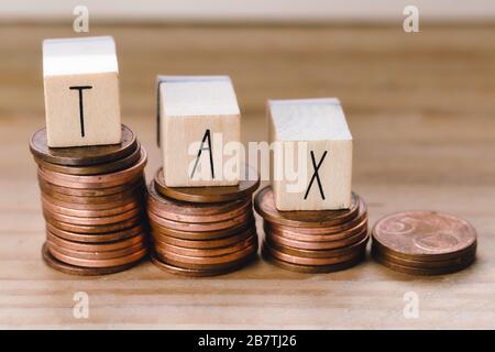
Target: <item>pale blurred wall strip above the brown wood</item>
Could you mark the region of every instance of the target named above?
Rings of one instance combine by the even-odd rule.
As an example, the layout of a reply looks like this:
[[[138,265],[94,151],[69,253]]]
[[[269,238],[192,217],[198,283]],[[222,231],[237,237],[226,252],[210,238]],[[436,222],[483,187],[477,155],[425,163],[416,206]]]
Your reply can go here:
[[[495,0],[2,0],[0,22],[72,20],[75,6],[110,21],[493,21]]]

